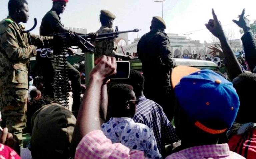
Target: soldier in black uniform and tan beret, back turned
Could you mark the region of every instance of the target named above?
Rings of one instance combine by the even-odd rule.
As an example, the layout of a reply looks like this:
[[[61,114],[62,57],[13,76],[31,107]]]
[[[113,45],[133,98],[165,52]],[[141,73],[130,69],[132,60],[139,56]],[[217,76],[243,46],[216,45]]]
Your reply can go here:
[[[146,98],[162,106],[168,119],[172,120],[170,69],[173,63],[170,41],[164,33],[165,29],[164,20],[158,16],[153,17],[150,32],[141,37],[137,51],[145,77]]]

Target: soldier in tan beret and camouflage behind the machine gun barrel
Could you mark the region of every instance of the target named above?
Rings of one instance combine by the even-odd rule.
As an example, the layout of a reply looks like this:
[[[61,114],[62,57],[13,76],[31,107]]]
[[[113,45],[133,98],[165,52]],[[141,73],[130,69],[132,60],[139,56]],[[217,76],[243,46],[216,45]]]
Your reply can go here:
[[[113,21],[115,20],[116,16],[108,10],[101,10],[100,11],[100,23],[101,27],[96,32],[98,34],[102,33],[112,33],[113,30]],[[117,53],[117,44],[115,39],[106,39],[102,41],[93,41],[91,42],[95,48],[96,52],[94,53],[94,60],[101,57],[102,55],[106,56],[115,56],[116,58],[121,57],[123,60],[131,59],[131,56],[119,54]]]

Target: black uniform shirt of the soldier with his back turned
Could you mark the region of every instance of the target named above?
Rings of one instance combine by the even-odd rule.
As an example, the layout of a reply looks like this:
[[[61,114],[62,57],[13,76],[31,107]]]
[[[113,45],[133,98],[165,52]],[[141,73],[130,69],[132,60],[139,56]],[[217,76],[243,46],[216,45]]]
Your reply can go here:
[[[145,87],[170,86],[172,56],[168,36],[160,30],[151,30],[141,37],[137,51],[142,62]]]

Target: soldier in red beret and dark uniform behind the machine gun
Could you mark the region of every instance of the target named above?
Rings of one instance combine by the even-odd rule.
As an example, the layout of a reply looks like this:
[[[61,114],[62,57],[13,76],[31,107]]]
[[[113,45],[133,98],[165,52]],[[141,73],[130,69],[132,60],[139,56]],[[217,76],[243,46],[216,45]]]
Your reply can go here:
[[[60,14],[62,14],[66,8],[68,0],[52,0],[53,5],[52,9],[45,14],[42,19],[40,27],[40,35],[50,36],[56,33],[67,33],[70,32],[66,30],[63,24],[60,22]],[[76,33],[81,35],[79,33]],[[89,33],[91,38],[95,38],[97,34]],[[42,69],[43,80],[45,86],[45,95],[48,95],[51,98],[54,97],[54,76],[55,76],[55,60],[54,55],[51,52],[48,52],[47,57],[42,58],[37,56],[37,61]],[[81,80],[80,73],[75,69],[69,62],[66,61],[65,69],[68,72],[68,78],[71,81],[72,92],[73,92],[73,106],[72,111],[78,111],[80,106],[80,94],[81,94]]]

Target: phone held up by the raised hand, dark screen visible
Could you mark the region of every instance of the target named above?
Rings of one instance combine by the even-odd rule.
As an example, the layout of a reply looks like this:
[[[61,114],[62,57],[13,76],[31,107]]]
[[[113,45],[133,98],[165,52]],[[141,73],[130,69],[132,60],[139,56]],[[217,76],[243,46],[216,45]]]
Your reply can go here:
[[[116,61],[116,75],[112,76],[111,79],[126,79],[130,76],[130,62],[129,61]]]

